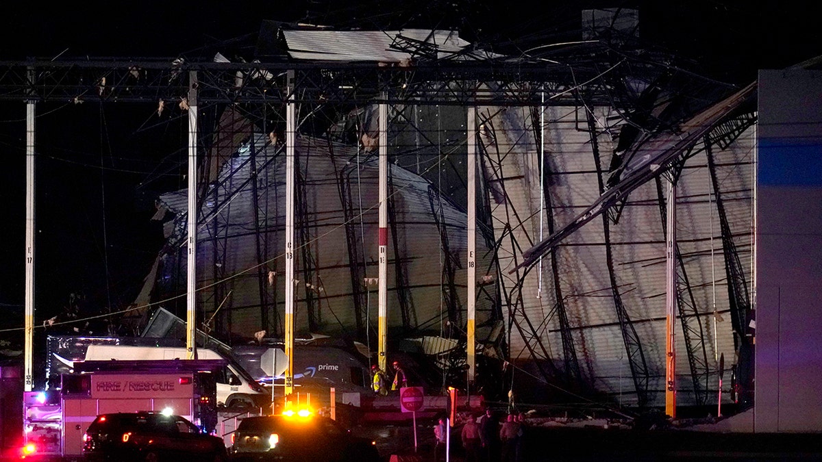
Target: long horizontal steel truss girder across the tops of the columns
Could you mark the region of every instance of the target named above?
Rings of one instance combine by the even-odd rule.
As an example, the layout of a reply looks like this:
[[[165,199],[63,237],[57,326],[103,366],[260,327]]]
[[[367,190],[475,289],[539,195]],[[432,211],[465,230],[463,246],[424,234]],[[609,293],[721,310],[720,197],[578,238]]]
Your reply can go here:
[[[0,100],[176,104],[187,95],[188,72],[197,72],[201,104],[284,104],[289,97],[284,72],[295,70],[299,89],[295,102],[301,104],[364,106],[378,101],[383,89],[389,90],[389,104],[415,100],[459,106],[538,106],[545,92],[550,94],[548,104],[567,104],[575,100],[579,82],[588,82],[581,85],[589,88],[591,101],[631,107],[634,97],[609,92],[604,77],[629,67],[642,67],[653,76],[667,67],[649,63],[637,53],[635,62],[622,58],[603,70],[603,63],[614,58],[607,47],[593,44],[569,53],[566,59],[567,63],[502,58],[419,62],[413,67],[363,62],[187,62],[182,58],[0,61]]]

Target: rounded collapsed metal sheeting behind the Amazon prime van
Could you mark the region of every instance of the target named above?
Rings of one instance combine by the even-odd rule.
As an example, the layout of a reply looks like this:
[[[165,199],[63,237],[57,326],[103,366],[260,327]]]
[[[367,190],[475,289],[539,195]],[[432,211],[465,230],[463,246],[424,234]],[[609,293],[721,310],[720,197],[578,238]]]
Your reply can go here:
[[[376,277],[377,236],[377,163],[376,157],[358,152],[356,147],[342,146],[309,137],[299,137],[297,146],[300,176],[304,184],[305,215],[297,219],[307,229],[298,239],[298,303],[295,308],[296,330],[321,332],[328,335],[354,335],[358,329],[372,334],[376,328],[376,286],[362,288],[365,306],[355,306],[357,290],[352,286],[351,267],[357,266],[366,278]],[[389,327],[396,334],[404,328],[440,334],[446,326],[447,316],[442,307],[443,281],[441,280],[441,232],[447,233],[454,249],[465,247],[465,213],[443,200],[436,219],[432,216],[431,185],[418,175],[395,165],[390,168],[393,183],[394,214],[399,226],[390,229],[397,233],[401,261],[395,262],[393,239],[389,239],[390,264],[388,267]],[[252,185],[252,181],[256,185]],[[344,207],[341,203],[339,182],[346,182],[347,191],[353,198],[353,222],[346,228]],[[358,197],[362,204],[357,205]],[[170,192],[160,200],[177,215],[176,231],[164,253],[164,265],[160,288],[164,293],[177,292],[185,284],[185,236],[187,192]],[[350,205],[349,205],[350,206]],[[282,146],[271,145],[270,138],[257,135],[252,142],[224,164],[219,182],[205,192],[197,232],[197,286],[199,303],[205,305],[205,319],[219,310],[215,321],[236,337],[251,338],[261,326],[269,335],[278,334],[280,326],[275,320],[277,305],[284,303],[284,293],[276,293],[275,281],[284,274],[284,155]],[[441,226],[437,224],[437,220]],[[302,223],[301,223],[302,222]],[[347,235],[353,233],[353,236]],[[307,238],[307,239],[305,239]],[[351,239],[353,238],[353,240]],[[478,242],[482,242],[478,239]],[[346,245],[358,248],[349,253]],[[261,248],[265,253],[259,255]],[[301,252],[302,249],[307,250]],[[479,249],[478,249],[479,250]],[[489,266],[485,261],[491,252],[478,252],[478,265]],[[356,256],[358,261],[350,261]],[[305,270],[306,257],[312,258],[312,274]],[[413,298],[412,326],[403,326],[399,316],[397,275],[399,263],[412,275]],[[281,277],[281,276],[279,276]],[[309,277],[311,279],[307,280]],[[464,273],[457,275],[458,287],[465,286]],[[262,286],[261,286],[262,280]],[[362,279],[358,284],[366,284]],[[270,306],[266,307],[261,291],[270,291]],[[280,291],[282,292],[282,291]],[[373,293],[371,293],[373,292]],[[457,294],[459,296],[459,294]],[[276,298],[276,301],[273,301]],[[316,307],[309,307],[309,298]],[[459,296],[464,299],[464,294]],[[478,339],[490,335],[487,321],[490,307],[478,301]],[[312,313],[312,309],[315,312]],[[365,309],[367,312],[358,312]],[[268,313],[268,319],[261,318]],[[486,313],[486,315],[483,315]],[[309,317],[315,316],[312,321]],[[358,316],[362,320],[358,320]],[[463,320],[464,321],[464,320]],[[364,327],[363,327],[364,323]],[[358,332],[365,334],[366,332]]]

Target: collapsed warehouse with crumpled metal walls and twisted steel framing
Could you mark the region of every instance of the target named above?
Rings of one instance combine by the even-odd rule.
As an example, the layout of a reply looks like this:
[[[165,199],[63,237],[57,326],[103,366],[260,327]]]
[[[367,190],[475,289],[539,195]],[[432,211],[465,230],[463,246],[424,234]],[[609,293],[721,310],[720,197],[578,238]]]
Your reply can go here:
[[[584,40],[518,56],[483,51],[453,30],[266,21],[254,56],[99,65],[117,82],[99,96],[120,101],[179,99],[189,87],[181,70],[197,73],[199,104],[213,116],[199,140],[201,328],[228,344],[283,335],[293,104],[299,335],[344,337],[373,357],[376,151],[385,140],[389,351],[432,357],[442,377],[432,392],[464,386],[473,290],[476,386],[491,399],[514,390],[532,402],[644,408],[676,386],[680,405],[699,407],[718,388],[724,356],[724,399],[750,404],[753,87],[690,72],[640,44],[635,23],[598,28],[598,14]],[[94,65],[41,64],[67,73]],[[187,196],[158,198],[167,242],[127,313],[134,326],[157,307],[185,317]],[[666,378],[671,335],[675,385]]]

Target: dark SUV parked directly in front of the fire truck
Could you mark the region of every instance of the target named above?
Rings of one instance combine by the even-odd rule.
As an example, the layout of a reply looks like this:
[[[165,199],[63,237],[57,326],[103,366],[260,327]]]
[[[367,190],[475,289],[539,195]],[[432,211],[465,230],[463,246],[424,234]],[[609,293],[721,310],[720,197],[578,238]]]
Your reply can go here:
[[[157,462],[194,455],[201,462],[227,459],[223,440],[178,415],[100,414],[83,435],[83,459]]]

